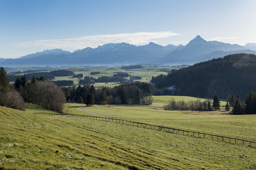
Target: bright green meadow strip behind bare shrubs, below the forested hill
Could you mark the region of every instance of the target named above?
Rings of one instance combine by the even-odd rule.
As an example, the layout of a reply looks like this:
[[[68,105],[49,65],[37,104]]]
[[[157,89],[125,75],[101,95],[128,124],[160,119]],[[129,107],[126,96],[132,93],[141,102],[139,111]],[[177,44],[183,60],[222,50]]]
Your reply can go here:
[[[153,103],[151,106],[165,106],[169,103],[171,99],[174,99],[175,101],[195,101],[197,99],[200,99],[200,101],[204,101],[205,99],[198,98],[198,97],[189,97],[189,96],[173,96],[173,95],[164,95],[164,96],[152,96],[153,97]],[[220,101],[220,107],[224,108],[226,106],[226,101]]]

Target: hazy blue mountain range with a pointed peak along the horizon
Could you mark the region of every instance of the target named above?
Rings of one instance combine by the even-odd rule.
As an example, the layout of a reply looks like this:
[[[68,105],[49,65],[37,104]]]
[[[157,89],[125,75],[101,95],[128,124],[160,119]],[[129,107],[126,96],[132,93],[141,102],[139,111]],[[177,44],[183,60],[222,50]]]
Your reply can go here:
[[[51,49],[16,59],[0,59],[0,65],[194,64],[233,53],[256,54],[256,44],[231,45],[206,41],[201,36],[196,36],[187,45],[178,46],[162,46],[154,42],[139,46],[125,42],[109,43],[94,49],[78,49],[72,53],[62,49]]]

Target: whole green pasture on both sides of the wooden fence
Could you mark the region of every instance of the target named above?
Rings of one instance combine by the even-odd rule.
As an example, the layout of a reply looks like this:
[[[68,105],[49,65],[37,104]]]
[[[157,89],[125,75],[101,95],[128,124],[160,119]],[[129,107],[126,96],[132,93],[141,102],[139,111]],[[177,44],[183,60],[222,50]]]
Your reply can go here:
[[[65,112],[81,104],[66,104]],[[256,141],[256,115],[177,112],[136,106],[83,108],[185,130]],[[33,114],[0,106],[0,169],[255,169],[256,147],[118,123]]]

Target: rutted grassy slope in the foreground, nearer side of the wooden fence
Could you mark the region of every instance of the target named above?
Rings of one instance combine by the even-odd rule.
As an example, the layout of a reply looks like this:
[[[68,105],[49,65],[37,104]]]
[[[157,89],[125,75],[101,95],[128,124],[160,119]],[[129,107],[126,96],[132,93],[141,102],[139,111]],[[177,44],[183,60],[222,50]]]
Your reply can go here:
[[[73,107],[70,108],[70,112],[75,112],[75,107],[80,105],[69,106]],[[0,167],[3,169],[256,168],[254,147],[110,122],[32,114],[42,111],[47,110],[32,104],[27,105],[25,112],[0,106]]]

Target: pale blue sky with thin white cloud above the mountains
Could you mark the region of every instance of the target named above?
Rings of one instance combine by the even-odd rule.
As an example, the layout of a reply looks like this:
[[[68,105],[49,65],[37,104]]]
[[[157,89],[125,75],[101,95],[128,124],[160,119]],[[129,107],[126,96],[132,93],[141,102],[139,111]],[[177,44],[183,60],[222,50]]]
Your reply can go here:
[[[256,42],[255,0],[0,0],[0,58],[106,43]]]

